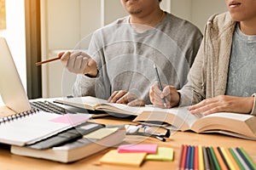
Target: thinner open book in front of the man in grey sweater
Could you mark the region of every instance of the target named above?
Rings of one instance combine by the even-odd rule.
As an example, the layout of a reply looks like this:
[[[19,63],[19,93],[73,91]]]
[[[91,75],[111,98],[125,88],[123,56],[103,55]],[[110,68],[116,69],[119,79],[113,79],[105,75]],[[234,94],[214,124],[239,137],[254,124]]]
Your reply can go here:
[[[108,103],[106,99],[98,99],[91,96],[55,99],[55,103],[85,108],[91,111],[114,112],[128,116],[137,116],[142,111],[151,111],[153,109],[152,107],[132,107],[124,104]]]

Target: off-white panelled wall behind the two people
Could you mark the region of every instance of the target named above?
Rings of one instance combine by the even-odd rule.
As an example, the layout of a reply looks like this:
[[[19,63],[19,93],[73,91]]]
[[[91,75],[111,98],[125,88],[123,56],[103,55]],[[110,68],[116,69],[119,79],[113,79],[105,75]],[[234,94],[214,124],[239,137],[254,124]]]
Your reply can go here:
[[[97,28],[126,15],[120,0],[42,0],[41,3],[43,59],[76,48],[81,40],[89,40],[87,37]],[[224,0],[162,0],[160,6],[191,21],[201,31],[210,15],[226,10]],[[70,93],[75,76],[67,75],[61,62],[55,61],[42,68],[44,98]]]

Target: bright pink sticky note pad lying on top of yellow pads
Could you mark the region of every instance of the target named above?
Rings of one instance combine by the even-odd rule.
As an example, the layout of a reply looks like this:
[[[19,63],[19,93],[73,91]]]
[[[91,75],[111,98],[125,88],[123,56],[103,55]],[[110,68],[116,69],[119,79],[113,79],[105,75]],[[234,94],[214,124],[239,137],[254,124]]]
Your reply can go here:
[[[122,144],[118,147],[119,153],[145,152],[154,154],[157,152],[157,144]]]

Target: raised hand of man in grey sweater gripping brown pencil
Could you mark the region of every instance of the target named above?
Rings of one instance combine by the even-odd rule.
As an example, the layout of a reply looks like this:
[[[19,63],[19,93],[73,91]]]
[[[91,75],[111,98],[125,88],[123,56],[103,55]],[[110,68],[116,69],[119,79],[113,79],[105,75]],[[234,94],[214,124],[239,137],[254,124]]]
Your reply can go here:
[[[97,76],[96,61],[91,59],[88,54],[67,51],[59,53],[58,56],[61,56],[61,62],[68,71],[90,77]]]

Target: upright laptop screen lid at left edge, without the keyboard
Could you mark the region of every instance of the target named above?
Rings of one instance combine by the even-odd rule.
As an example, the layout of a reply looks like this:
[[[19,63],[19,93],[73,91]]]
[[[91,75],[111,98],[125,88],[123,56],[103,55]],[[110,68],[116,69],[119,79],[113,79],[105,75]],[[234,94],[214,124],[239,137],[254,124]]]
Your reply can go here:
[[[0,94],[5,106],[16,113],[31,110],[15,61],[4,37],[0,37],[0,80]]]

